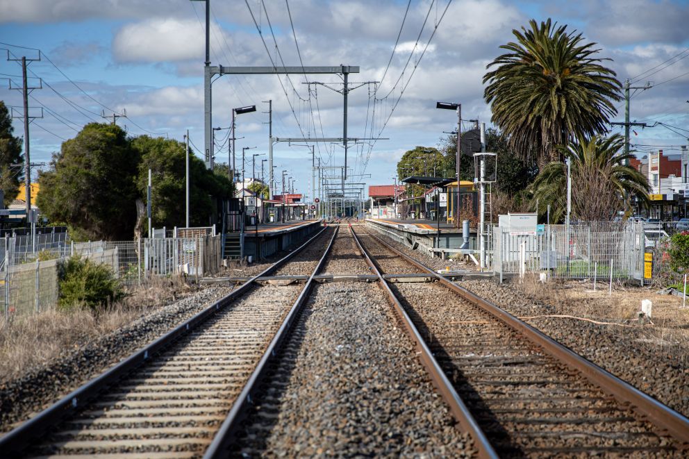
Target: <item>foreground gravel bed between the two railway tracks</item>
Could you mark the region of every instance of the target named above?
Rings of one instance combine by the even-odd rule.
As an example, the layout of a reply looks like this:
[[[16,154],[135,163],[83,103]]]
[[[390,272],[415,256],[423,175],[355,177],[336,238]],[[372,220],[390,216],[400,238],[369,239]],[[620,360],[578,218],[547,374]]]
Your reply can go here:
[[[474,454],[377,287],[319,285],[295,328],[235,454]]]

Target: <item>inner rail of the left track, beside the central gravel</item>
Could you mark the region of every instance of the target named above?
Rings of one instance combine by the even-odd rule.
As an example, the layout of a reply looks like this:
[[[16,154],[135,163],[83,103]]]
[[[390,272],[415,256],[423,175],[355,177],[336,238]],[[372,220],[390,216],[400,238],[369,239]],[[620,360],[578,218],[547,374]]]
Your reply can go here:
[[[208,449],[206,449],[206,453],[204,453],[204,459],[228,457],[227,449],[231,446],[233,440],[235,440],[238,428],[240,428],[240,423],[247,415],[247,409],[252,403],[252,394],[255,394],[255,392],[258,390],[260,383],[267,375],[269,365],[274,359],[277,358],[277,350],[289,336],[294,322],[297,322],[299,312],[301,312],[301,308],[304,306],[304,303],[306,303],[306,299],[313,289],[313,285],[315,283],[313,278],[323,266],[326,256],[328,256],[331,247],[333,247],[333,241],[335,240],[335,237],[337,237],[339,230],[339,226],[335,228],[333,237],[331,237],[323,256],[319,260],[315,269],[313,269],[313,273],[311,273],[309,276],[308,281],[306,281],[304,288],[299,294],[299,297],[297,297],[297,300],[294,301],[294,305],[290,309],[290,312],[288,312],[288,315],[285,317],[285,320],[278,329],[277,333],[275,333],[275,336],[266,348],[265,353],[263,353],[263,357],[258,362],[258,365],[256,365],[256,369],[254,369],[254,372],[251,373],[251,376],[249,376],[249,380],[247,381],[246,385],[244,385],[244,389],[242,392],[240,392],[237,399],[235,399],[229,414],[225,418],[218,431],[215,433],[213,442],[208,445]]]

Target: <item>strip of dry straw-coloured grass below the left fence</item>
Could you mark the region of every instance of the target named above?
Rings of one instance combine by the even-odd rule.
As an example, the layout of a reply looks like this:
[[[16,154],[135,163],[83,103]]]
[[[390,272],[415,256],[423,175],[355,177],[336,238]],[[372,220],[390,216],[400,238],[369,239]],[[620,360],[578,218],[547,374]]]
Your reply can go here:
[[[152,278],[100,312],[47,310],[10,322],[0,317],[0,383],[131,324],[142,314],[165,306],[190,290],[182,278]]]

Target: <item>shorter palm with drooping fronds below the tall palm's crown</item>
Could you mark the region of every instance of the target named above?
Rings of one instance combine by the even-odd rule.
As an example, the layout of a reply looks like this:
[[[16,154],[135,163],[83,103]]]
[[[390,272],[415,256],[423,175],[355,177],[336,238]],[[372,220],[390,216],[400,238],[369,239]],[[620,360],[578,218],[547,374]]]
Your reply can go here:
[[[622,197],[648,201],[648,178],[629,165],[633,154],[621,153],[624,137],[594,135],[579,137],[559,153],[571,161],[572,217],[588,222],[610,220],[622,208]],[[551,220],[562,221],[567,211],[567,165],[550,162],[533,182],[533,199],[538,199],[540,213],[551,206]]]

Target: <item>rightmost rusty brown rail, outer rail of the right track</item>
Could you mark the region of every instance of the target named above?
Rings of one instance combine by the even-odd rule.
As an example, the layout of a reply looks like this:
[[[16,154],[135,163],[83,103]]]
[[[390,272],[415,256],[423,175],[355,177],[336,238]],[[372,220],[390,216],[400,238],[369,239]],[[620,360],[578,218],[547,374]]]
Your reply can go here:
[[[370,233],[372,237],[378,240],[383,246],[390,249],[393,253],[401,256],[404,260],[415,265],[419,269],[422,269],[429,274],[432,274],[440,283],[448,287],[450,290],[460,294],[461,297],[476,304],[486,312],[489,312],[497,319],[501,320],[510,328],[524,335],[528,340],[534,344],[542,347],[551,356],[565,363],[568,367],[581,373],[590,383],[597,385],[607,394],[613,396],[617,401],[621,403],[630,403],[632,408],[639,414],[646,417],[649,422],[660,427],[661,430],[666,431],[681,444],[683,444],[684,449],[689,448],[689,419],[681,413],[676,412],[669,406],[661,403],[660,401],[650,397],[648,394],[641,392],[633,385],[622,381],[614,374],[608,372],[606,369],[599,367],[590,360],[583,358],[578,353],[575,353],[571,349],[565,347],[563,344],[553,340],[542,331],[533,328],[533,326],[526,324],[526,322],[517,319],[514,315],[511,315],[506,310],[499,308],[495,304],[488,300],[485,300],[464,287],[460,287],[453,281],[440,276],[440,274],[433,271],[433,269],[426,267],[421,262],[411,258],[405,253],[395,249],[395,247],[390,246],[387,242],[381,240],[380,237]]]

